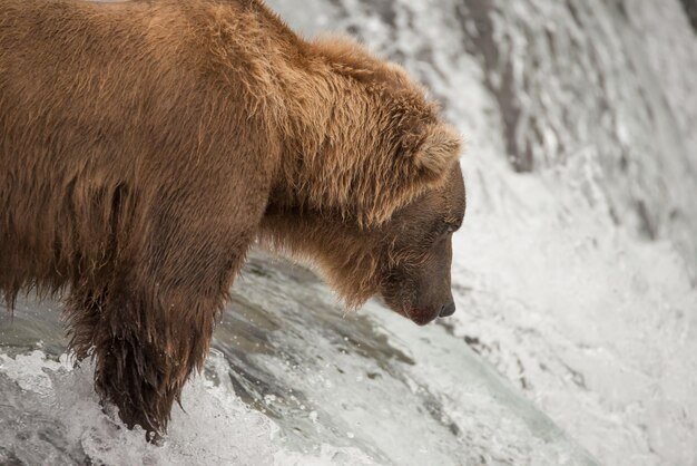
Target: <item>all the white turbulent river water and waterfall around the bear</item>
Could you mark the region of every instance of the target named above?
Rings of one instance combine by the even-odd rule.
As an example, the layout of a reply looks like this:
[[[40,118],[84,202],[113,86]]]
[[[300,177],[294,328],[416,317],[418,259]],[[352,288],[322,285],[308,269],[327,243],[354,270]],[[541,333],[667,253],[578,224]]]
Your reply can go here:
[[[275,0],[402,62],[468,139],[458,312],[346,313],[254,252],[161,446],[60,304],[0,309],[0,464],[697,464],[697,36],[678,0]]]

